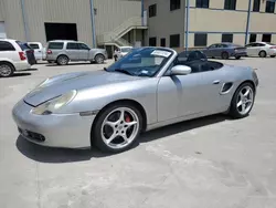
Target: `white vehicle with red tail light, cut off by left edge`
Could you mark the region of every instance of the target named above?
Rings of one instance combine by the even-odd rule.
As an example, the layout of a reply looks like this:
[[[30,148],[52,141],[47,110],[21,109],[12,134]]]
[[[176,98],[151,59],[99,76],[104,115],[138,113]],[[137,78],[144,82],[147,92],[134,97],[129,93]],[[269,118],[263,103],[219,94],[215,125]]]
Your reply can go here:
[[[15,71],[30,69],[34,63],[33,50],[26,43],[0,39],[0,76],[11,76]]]

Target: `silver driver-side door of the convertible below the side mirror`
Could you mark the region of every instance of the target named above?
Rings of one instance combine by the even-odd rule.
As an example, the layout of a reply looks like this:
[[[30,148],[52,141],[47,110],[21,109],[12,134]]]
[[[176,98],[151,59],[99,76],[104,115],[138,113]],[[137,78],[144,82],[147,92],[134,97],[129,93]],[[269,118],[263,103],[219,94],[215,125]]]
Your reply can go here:
[[[208,62],[205,62],[208,63]],[[225,108],[221,102],[224,83],[220,70],[199,72],[204,63],[194,62],[188,75],[162,76],[158,84],[158,122],[219,113]],[[198,71],[198,72],[195,72]]]

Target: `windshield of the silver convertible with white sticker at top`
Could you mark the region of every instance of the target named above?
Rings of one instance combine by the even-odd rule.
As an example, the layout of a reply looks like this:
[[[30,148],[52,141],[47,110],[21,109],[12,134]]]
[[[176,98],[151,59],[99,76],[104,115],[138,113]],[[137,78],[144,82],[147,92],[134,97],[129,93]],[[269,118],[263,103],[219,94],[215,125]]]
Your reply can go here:
[[[171,55],[171,51],[163,49],[135,49],[128,55],[106,69],[106,71],[119,72],[134,76],[153,76]]]

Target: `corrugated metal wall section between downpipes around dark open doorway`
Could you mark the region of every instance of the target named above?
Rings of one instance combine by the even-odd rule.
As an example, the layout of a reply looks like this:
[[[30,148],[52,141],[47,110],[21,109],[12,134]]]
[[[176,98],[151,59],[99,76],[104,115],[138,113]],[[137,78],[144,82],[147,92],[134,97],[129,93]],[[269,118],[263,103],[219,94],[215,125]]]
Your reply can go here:
[[[89,0],[25,0],[25,13],[32,41],[46,42],[45,22],[76,23],[77,39],[93,45]]]

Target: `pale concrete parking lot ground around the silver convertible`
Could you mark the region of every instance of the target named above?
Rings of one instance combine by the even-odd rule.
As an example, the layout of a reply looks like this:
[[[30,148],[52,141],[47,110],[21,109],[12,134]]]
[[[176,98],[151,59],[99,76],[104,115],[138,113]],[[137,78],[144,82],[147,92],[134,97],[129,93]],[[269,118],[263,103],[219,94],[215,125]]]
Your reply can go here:
[[[276,59],[257,67],[251,116],[214,115],[144,134],[118,154],[56,149],[18,134],[11,110],[44,79],[107,64],[38,64],[0,79],[0,208],[275,208]]]

